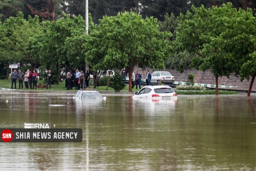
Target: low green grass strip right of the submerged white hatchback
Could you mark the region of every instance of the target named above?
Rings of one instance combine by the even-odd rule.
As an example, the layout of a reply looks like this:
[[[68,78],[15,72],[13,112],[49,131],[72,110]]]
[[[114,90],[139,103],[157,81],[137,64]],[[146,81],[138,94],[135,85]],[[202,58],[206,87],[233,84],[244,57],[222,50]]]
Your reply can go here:
[[[175,90],[175,93],[178,95],[215,95],[215,90],[203,90],[203,91],[179,91]],[[240,94],[236,91],[225,91],[225,90],[219,90],[219,94]]]

